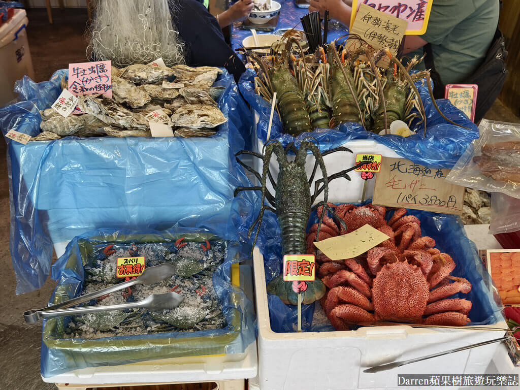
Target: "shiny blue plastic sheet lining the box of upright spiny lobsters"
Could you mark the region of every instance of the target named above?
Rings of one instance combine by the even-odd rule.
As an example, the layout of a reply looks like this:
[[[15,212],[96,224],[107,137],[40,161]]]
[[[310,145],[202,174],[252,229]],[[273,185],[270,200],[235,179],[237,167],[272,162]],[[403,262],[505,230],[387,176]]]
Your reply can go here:
[[[244,99],[259,115],[256,134],[265,143],[271,106],[269,102],[255,93],[253,84],[255,75],[256,73],[253,70],[246,70],[239,80],[239,89]],[[464,152],[467,145],[473,139],[478,138],[478,128],[467,119],[462,111],[454,107],[448,99],[436,100],[439,109],[448,119],[468,127],[470,130],[447,123],[433,106],[427,87],[422,86],[420,81],[415,83],[415,85],[419,90],[426,112],[426,137],[423,136],[424,126],[417,125],[418,120],[416,120],[414,125],[412,124],[412,129],[417,129],[418,134],[409,137],[398,135],[381,136],[365,131],[358,123],[348,122],[342,123],[333,129],[316,129],[310,133],[300,134],[295,138],[290,134],[282,133],[280,117],[275,112],[269,139],[278,139],[284,146],[294,141],[296,146],[298,146],[302,139],[310,136],[318,140],[321,151],[341,146],[352,139],[373,139],[414,163],[429,167],[451,168]]]

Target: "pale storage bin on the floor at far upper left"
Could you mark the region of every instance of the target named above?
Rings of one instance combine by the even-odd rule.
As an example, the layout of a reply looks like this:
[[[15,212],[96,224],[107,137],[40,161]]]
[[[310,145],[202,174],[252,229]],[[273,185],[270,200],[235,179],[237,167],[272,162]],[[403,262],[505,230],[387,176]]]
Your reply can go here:
[[[27,40],[29,19],[24,9],[15,9],[12,18],[0,27],[0,107],[16,98],[15,82],[24,75],[34,79]]]

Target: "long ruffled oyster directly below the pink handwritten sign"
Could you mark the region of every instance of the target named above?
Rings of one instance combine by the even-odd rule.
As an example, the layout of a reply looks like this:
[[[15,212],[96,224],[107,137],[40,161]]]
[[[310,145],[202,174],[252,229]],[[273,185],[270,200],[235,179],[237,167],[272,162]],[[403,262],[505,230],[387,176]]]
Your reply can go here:
[[[144,115],[126,109],[112,99],[83,95],[79,97],[77,105],[82,111],[95,115],[113,127],[141,130],[149,128]]]

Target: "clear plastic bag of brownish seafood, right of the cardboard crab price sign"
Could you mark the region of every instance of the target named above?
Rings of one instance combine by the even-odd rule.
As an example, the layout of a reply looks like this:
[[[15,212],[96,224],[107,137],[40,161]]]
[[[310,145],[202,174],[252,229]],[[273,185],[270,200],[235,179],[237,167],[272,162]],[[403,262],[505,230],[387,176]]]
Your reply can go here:
[[[520,199],[520,124],[483,119],[446,180]]]

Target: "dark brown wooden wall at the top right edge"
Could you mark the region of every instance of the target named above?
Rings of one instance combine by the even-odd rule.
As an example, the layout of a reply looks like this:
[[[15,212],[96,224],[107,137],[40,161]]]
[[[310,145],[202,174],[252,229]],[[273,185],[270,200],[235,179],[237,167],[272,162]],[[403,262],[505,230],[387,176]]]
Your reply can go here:
[[[508,79],[499,99],[517,116],[520,116],[520,1],[503,0],[500,11],[500,31],[504,34],[508,50]]]

